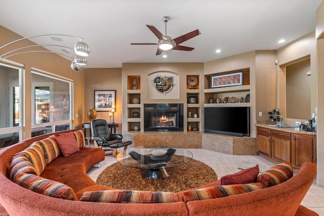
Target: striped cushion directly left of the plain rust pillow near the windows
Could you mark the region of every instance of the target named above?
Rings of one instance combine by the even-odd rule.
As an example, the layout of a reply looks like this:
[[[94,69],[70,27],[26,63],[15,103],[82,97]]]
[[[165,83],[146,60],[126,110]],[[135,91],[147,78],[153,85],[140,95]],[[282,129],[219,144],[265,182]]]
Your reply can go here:
[[[44,140],[37,141],[42,146],[46,164],[49,164],[60,155],[60,148],[57,145],[54,136]]]

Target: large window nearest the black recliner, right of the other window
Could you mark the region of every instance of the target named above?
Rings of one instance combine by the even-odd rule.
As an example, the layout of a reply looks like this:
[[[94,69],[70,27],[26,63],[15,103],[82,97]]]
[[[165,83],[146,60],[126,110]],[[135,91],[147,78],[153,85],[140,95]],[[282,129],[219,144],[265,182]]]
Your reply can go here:
[[[72,82],[32,71],[31,88],[32,136],[70,129]]]

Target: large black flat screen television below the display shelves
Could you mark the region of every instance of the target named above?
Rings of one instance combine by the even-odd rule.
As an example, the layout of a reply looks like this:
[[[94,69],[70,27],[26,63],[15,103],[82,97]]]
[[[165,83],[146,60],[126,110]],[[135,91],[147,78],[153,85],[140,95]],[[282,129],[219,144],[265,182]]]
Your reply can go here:
[[[250,137],[250,107],[205,107],[205,133]]]

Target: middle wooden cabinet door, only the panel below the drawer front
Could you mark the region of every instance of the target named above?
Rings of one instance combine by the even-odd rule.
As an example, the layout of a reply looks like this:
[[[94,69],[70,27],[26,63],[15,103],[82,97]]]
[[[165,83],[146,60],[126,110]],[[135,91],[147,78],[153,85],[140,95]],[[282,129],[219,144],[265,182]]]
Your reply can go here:
[[[290,156],[290,140],[281,139],[278,137],[271,136],[271,158],[279,162],[291,162]]]

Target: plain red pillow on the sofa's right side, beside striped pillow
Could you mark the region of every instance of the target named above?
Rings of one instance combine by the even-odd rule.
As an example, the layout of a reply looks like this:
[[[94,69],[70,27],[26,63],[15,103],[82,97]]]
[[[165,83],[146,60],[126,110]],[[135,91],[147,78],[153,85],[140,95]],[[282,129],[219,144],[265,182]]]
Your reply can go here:
[[[249,184],[257,181],[259,165],[221,177],[220,185]]]

